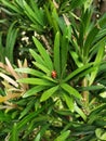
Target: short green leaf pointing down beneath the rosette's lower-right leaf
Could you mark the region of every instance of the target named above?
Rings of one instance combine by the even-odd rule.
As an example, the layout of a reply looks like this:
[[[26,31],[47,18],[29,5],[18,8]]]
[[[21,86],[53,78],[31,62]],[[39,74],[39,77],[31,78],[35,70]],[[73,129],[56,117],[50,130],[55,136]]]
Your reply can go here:
[[[74,99],[72,99],[71,97],[68,97],[67,93],[64,93],[63,95],[64,95],[64,98],[65,98],[65,101],[66,101],[66,104],[67,104],[68,108],[69,108],[71,112],[74,112]]]

